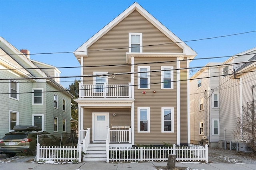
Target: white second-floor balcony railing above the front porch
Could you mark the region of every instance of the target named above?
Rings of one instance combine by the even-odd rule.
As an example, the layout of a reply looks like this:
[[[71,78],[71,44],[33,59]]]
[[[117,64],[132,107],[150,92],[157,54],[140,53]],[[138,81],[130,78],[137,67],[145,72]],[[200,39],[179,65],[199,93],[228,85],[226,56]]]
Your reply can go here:
[[[131,98],[131,83],[129,84],[81,84],[80,98]]]

